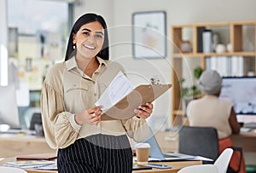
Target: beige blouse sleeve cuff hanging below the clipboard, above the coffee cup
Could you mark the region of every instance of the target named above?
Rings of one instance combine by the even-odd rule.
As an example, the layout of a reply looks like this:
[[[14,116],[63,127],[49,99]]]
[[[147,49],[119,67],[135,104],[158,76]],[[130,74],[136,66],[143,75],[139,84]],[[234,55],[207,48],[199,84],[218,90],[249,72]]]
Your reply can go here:
[[[149,127],[145,119],[133,118],[121,120],[127,131],[127,135],[134,141],[144,141],[149,136]]]

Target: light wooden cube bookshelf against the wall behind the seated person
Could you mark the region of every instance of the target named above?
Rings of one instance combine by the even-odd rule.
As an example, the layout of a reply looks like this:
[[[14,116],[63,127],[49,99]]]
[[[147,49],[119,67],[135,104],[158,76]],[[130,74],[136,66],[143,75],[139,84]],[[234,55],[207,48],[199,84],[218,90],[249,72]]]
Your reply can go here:
[[[213,49],[210,53],[203,53],[202,33],[205,32],[205,30],[210,30],[212,32],[211,36],[217,34],[218,37],[220,37],[220,43],[224,45],[229,43],[231,45],[230,52],[224,51],[223,53],[215,53]],[[191,48],[183,49],[184,45],[190,45]],[[198,66],[201,66],[201,68],[205,70],[208,67],[212,68],[213,64],[211,63],[215,61],[212,61],[212,57],[217,57],[218,63],[221,64],[216,66],[220,68],[219,65],[221,65],[222,69],[227,62],[223,63],[223,58],[220,57],[225,57],[225,59],[230,58],[230,60],[226,60],[229,61],[230,64],[232,64],[230,61],[233,62],[234,60],[233,57],[235,57],[235,59],[236,57],[242,58],[243,66],[247,66],[243,67],[242,70],[256,73],[256,21],[195,23],[172,26],[172,123],[177,122],[177,117],[185,114],[180,92],[182,87],[180,86],[180,80],[184,78],[183,58],[189,58],[193,63],[200,63]],[[195,66],[195,64],[193,66]],[[188,64],[186,64],[186,68],[186,71],[190,71],[188,73],[193,74],[194,69],[189,68]],[[228,69],[228,67],[226,68]],[[218,69],[216,70],[218,71]],[[243,72],[243,75],[247,74],[247,72]],[[191,81],[190,84],[193,84],[191,77],[189,80]]]

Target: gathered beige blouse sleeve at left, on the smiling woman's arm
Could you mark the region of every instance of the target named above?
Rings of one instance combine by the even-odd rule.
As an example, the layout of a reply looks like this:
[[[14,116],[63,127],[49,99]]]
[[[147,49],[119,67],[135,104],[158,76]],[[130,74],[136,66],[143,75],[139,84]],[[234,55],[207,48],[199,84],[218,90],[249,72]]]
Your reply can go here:
[[[81,126],[76,124],[73,113],[65,112],[61,93],[46,83],[41,93],[41,112],[44,136],[49,147],[67,147],[78,138]]]

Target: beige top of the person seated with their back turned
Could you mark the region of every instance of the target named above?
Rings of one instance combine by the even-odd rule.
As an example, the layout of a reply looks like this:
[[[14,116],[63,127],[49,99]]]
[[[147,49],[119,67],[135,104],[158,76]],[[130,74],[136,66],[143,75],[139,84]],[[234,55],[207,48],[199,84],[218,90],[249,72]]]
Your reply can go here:
[[[217,96],[205,95],[201,99],[190,101],[187,114],[190,126],[210,126],[218,131],[218,138],[231,135],[229,123],[231,108],[230,101],[220,101]]]

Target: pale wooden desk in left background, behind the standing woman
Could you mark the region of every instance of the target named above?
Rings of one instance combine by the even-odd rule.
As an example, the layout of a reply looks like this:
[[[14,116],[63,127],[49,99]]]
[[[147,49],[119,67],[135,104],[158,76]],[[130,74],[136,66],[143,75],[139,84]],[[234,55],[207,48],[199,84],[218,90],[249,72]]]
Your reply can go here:
[[[0,158],[32,153],[55,153],[41,136],[0,135]]]

